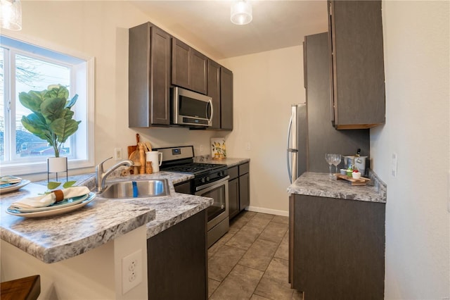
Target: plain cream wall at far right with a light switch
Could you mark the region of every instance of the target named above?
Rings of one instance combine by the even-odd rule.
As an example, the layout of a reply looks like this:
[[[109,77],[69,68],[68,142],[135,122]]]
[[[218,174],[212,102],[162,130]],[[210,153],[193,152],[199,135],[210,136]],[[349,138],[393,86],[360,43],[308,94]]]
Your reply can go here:
[[[450,297],[449,4],[383,1],[386,124],[371,156],[387,183],[385,299]]]

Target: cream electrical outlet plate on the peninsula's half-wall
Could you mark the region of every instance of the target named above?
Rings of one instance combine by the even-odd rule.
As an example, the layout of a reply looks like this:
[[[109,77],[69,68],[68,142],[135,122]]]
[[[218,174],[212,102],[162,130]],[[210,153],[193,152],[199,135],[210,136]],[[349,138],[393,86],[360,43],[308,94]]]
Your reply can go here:
[[[142,250],[122,258],[122,295],[142,282]]]

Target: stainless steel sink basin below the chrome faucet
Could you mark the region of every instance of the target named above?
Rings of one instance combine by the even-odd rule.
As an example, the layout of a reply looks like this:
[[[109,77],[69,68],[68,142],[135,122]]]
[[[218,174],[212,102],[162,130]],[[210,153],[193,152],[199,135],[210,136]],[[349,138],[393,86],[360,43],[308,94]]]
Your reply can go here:
[[[110,199],[129,199],[168,196],[169,194],[167,179],[156,179],[111,182],[100,196]]]

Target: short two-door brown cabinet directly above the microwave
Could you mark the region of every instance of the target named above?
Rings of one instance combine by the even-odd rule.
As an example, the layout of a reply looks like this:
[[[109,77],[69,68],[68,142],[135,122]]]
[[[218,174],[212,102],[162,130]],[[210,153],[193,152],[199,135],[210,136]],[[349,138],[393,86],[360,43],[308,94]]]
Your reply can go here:
[[[172,38],[172,85],[207,94],[207,57]]]

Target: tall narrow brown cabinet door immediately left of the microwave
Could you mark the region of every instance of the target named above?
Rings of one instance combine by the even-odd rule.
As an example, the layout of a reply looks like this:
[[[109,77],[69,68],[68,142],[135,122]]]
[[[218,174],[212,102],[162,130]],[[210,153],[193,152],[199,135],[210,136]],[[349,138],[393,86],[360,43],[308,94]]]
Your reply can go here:
[[[151,29],[151,123],[170,124],[170,36],[158,27]]]

